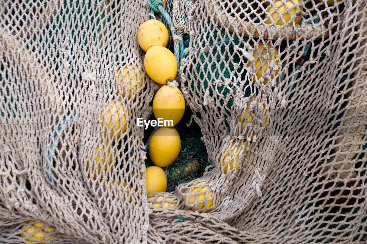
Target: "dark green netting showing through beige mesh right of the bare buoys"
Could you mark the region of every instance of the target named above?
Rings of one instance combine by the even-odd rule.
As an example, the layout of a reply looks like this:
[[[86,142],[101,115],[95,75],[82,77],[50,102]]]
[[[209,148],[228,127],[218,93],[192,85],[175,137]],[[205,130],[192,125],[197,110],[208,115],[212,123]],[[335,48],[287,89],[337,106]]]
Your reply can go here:
[[[209,26],[210,27],[206,28],[206,30],[215,29],[214,26]],[[246,80],[247,59],[241,60],[240,55],[242,55],[242,53],[238,50],[243,49],[245,43],[253,45],[253,42],[247,37],[244,37],[243,41],[241,41],[239,36],[223,29],[220,31],[215,29],[213,34],[210,32],[203,32],[200,39],[201,42],[208,42],[209,46],[207,50],[199,56],[199,59],[188,68],[192,70],[192,67],[194,65],[196,66],[196,72],[189,72],[194,74],[193,79],[198,80],[197,84],[191,84],[191,88],[195,91],[205,91],[208,89],[209,96],[217,97],[221,106],[224,106],[226,118],[229,118],[233,112],[233,95],[231,92],[233,93],[233,90],[235,90],[237,86],[240,86],[240,82],[245,81],[244,85],[242,85],[244,87],[244,96],[248,97],[251,95],[251,90],[246,89],[246,85],[250,84],[250,81],[248,79]],[[210,49],[213,49],[213,51],[210,52]],[[231,60],[231,62],[228,63],[228,60]],[[207,72],[208,69],[210,72]],[[191,79],[190,75],[188,75],[188,80],[189,79]],[[229,80],[229,84],[223,82],[225,79]],[[201,84],[199,80],[203,80],[203,84]],[[188,85],[187,82],[185,85]],[[201,88],[201,85],[203,85],[204,89]],[[192,93],[190,92],[190,96],[191,95]],[[225,123],[229,129],[228,122],[225,121]]]

